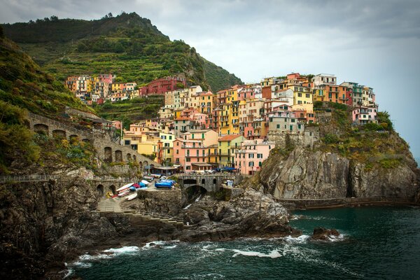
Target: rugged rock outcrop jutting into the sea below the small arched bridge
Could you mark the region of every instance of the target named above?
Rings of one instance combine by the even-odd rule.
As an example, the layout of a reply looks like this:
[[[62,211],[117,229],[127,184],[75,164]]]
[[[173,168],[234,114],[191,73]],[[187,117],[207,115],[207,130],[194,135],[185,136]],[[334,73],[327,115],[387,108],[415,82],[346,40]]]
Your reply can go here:
[[[249,189],[228,202],[205,196],[184,214],[186,223],[181,240],[224,240],[235,237],[281,237],[299,235],[290,228],[286,209],[271,195]]]

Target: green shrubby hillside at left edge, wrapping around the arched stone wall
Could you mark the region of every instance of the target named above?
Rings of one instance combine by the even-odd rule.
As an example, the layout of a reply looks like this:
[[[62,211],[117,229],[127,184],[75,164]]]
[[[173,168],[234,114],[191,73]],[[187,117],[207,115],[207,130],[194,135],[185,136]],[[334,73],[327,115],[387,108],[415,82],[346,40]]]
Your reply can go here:
[[[45,162],[89,165],[87,144],[51,141],[25,124],[27,112],[69,122],[65,108],[94,112],[13,43],[0,28],[0,174],[36,172]],[[31,168],[28,168],[32,165]]]

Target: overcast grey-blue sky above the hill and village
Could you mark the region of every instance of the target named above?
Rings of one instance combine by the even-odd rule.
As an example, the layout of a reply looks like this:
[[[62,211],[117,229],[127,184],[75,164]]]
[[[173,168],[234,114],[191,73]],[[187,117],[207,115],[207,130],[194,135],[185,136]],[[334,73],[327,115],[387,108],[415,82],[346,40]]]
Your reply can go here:
[[[373,87],[420,158],[419,0],[0,0],[0,22],[135,12],[246,83],[332,73]],[[420,110],[419,110],[420,111]]]

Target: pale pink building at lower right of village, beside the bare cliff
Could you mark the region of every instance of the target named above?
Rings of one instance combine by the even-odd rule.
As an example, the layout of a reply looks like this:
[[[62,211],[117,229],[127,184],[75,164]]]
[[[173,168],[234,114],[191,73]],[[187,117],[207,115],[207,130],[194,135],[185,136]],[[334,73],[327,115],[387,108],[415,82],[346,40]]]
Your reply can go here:
[[[235,168],[241,174],[255,174],[255,172],[260,171],[262,162],[268,158],[269,151],[274,146],[274,142],[269,142],[266,139],[242,142],[241,148],[235,151]]]

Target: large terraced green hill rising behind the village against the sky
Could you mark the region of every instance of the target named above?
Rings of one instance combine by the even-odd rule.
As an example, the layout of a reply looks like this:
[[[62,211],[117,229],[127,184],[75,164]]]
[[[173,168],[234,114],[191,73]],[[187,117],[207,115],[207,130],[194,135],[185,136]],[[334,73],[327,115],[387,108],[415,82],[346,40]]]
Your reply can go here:
[[[66,76],[115,73],[118,81],[146,84],[184,73],[191,85],[214,92],[241,80],[208,62],[183,41],[170,41],[151,21],[136,13],[101,20],[59,20],[3,25],[8,38],[59,80]]]

